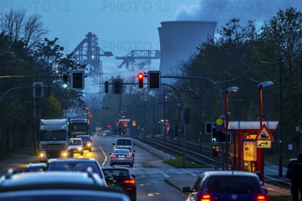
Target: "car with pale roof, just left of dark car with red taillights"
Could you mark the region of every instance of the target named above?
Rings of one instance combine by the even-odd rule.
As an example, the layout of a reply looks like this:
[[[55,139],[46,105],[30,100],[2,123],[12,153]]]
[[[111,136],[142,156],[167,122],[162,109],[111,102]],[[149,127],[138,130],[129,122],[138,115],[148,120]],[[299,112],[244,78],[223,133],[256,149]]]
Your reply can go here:
[[[53,158],[48,159],[45,171],[69,172],[79,171],[86,172],[91,167],[93,172],[98,174],[105,181],[101,165],[94,158]],[[106,183],[106,181],[105,181]]]

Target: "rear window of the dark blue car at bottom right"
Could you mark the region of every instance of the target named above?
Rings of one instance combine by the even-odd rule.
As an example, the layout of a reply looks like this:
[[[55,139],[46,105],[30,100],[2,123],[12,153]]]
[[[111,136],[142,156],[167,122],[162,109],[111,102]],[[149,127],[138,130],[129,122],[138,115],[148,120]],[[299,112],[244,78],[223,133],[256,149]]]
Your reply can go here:
[[[260,193],[261,187],[252,176],[210,176],[205,190],[216,193]]]

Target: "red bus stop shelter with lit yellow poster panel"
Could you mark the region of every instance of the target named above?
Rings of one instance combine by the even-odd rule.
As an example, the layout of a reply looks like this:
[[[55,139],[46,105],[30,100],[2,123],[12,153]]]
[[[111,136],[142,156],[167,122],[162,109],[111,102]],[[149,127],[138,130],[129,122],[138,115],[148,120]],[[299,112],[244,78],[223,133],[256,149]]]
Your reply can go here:
[[[269,132],[274,132],[278,121],[263,121]],[[261,149],[258,148],[256,136],[260,130],[259,121],[231,121],[229,122],[231,134],[231,170],[261,171]],[[273,135],[272,135],[273,136]]]

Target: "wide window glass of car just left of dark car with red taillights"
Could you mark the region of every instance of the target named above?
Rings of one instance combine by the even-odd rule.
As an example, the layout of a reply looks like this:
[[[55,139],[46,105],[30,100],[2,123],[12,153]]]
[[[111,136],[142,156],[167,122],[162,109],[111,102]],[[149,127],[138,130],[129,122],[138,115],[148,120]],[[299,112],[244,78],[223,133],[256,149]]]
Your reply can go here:
[[[47,167],[47,171],[58,171],[58,172],[69,172],[69,171],[79,171],[86,172],[87,168],[91,167],[93,172],[97,173],[102,177],[98,165],[94,162],[77,162],[77,161],[61,161],[61,162],[50,162]]]

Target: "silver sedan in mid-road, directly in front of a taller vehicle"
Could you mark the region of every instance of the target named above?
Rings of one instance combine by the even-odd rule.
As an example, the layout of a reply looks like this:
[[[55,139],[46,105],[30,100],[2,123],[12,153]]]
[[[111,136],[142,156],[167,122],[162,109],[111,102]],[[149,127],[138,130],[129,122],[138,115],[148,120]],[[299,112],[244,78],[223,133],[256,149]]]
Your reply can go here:
[[[129,165],[133,167],[133,156],[129,149],[114,149],[113,153],[110,153],[110,166],[113,165]]]

